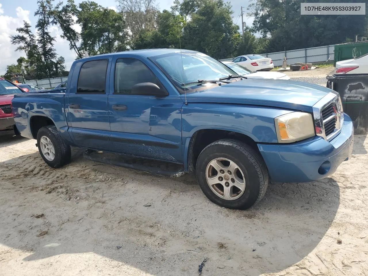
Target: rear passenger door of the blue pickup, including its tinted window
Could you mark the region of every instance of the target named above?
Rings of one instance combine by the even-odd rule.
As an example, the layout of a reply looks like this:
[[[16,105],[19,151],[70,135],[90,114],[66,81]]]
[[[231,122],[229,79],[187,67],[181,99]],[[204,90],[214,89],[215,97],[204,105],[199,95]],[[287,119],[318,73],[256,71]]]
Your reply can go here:
[[[77,146],[110,150],[110,121],[107,111],[112,57],[87,60],[75,65],[71,83],[67,84],[67,120]]]

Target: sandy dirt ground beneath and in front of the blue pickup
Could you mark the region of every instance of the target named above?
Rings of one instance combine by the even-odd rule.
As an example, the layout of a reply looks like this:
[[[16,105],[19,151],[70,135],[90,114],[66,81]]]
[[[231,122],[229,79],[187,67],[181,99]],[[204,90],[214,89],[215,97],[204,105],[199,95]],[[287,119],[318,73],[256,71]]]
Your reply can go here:
[[[0,275],[368,275],[368,138],[314,183],[272,183],[245,211],[191,176],[85,160],[51,169],[35,140],[0,138]],[[340,243],[341,242],[341,243]]]

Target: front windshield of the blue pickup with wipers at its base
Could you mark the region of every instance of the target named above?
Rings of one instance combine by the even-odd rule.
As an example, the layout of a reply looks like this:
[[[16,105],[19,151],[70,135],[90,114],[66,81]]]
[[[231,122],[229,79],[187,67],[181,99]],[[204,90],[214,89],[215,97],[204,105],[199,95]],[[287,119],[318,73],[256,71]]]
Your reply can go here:
[[[180,93],[195,89],[200,81],[218,80],[236,72],[206,54],[198,52],[176,52],[150,57],[176,85]],[[220,82],[219,82],[220,83]]]

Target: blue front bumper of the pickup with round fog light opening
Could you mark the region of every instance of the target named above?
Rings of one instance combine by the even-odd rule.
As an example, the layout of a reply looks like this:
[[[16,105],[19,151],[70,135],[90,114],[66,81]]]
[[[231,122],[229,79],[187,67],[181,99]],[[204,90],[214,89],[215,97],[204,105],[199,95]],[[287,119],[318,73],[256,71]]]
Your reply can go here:
[[[353,151],[354,127],[344,114],[341,132],[331,141],[315,136],[287,145],[258,144],[272,181],[310,182],[333,174]]]

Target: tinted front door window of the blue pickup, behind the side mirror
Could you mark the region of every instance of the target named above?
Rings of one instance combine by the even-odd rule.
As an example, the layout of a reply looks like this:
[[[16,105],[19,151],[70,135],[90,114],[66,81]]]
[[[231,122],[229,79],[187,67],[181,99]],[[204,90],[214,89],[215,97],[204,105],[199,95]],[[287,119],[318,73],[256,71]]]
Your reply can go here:
[[[159,80],[140,60],[118,59],[115,65],[115,93],[131,94],[132,87],[142,82],[152,82],[162,88]]]

